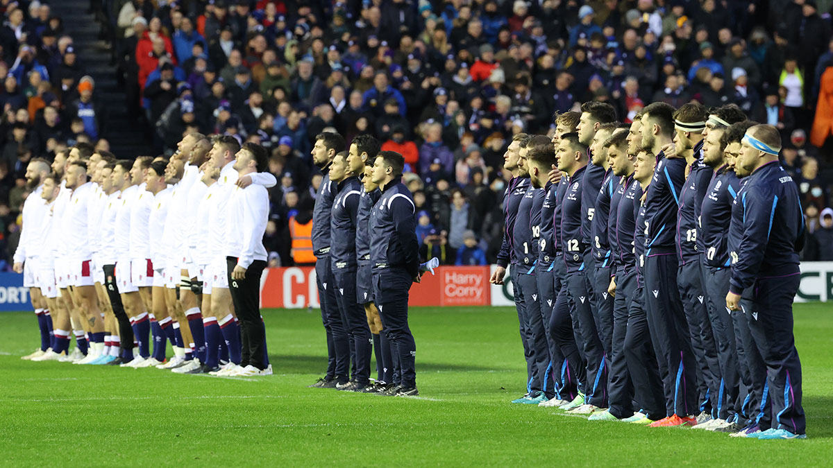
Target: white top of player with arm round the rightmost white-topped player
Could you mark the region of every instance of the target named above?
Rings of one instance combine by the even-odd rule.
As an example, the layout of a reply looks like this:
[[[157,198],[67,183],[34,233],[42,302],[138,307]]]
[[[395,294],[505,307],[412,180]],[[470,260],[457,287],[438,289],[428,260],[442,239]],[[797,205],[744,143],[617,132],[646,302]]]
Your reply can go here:
[[[220,171],[220,178],[214,185],[217,185],[217,201],[212,204],[211,212],[208,215],[210,229],[209,253],[212,261],[223,260],[226,257],[226,229],[229,221],[227,205],[232,198],[232,193],[237,188],[237,171],[234,169],[234,162],[228,162]],[[262,187],[275,187],[277,179],[269,172],[255,172],[252,176],[252,185]],[[251,187],[251,186],[250,186]],[[247,187],[248,188],[248,187]]]

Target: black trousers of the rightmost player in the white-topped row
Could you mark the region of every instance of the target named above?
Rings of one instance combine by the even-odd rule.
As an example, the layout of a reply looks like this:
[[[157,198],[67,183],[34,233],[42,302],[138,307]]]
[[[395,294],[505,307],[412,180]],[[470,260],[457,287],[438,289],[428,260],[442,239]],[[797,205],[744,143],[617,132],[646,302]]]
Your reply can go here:
[[[255,366],[261,371],[266,368],[263,362],[263,346],[266,343],[266,331],[260,316],[260,278],[266,261],[252,261],[242,280],[232,279],[232,271],[237,266],[237,258],[226,257],[228,266],[228,288],[232,292],[232,303],[240,321],[240,347],[242,350],[240,366]]]

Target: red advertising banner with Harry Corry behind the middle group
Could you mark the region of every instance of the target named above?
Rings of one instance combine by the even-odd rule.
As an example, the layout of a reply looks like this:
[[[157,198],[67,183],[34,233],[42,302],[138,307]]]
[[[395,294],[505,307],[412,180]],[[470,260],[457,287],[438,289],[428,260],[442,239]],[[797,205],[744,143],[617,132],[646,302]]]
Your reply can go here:
[[[440,266],[411,286],[412,306],[488,306],[488,266]],[[315,268],[267,268],[261,278],[261,306],[277,309],[317,308]]]

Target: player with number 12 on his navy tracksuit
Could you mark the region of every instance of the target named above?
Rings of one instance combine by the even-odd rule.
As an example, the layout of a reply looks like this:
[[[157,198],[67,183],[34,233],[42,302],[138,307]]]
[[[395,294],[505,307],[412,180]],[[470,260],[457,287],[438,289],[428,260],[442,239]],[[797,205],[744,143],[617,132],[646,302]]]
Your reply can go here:
[[[566,292],[570,300],[570,315],[577,326],[576,343],[583,351],[586,366],[584,402],[573,401],[563,409],[576,414],[591,414],[607,405],[607,380],[605,350],[596,329],[588,292],[585,257],[590,256],[590,246],[582,232],[585,210],[582,205],[582,187],[588,167],[587,147],[577,134],[561,137],[558,147],[558,168],[570,177],[569,187],[561,204],[561,252],[566,265]],[[589,228],[589,226],[588,226]],[[557,309],[557,307],[556,307]],[[570,356],[567,356],[569,359]]]

